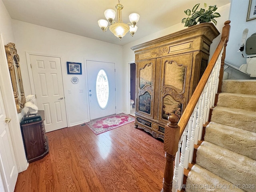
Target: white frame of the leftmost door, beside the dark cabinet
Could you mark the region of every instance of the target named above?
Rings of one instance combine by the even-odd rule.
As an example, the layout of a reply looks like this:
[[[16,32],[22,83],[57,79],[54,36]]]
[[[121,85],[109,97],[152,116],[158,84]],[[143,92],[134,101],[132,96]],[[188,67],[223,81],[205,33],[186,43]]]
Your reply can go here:
[[[24,144],[22,140],[22,134],[20,130],[20,119],[22,118],[22,113],[17,113],[16,104],[14,100],[14,94],[12,89],[12,81],[10,77],[10,72],[8,68],[6,52],[4,48],[4,40],[2,37],[2,32],[0,32],[0,87],[2,90],[2,97],[5,104],[6,116],[11,118],[9,128],[10,135],[12,138],[12,145],[14,149],[16,164],[18,172],[22,172],[28,168],[28,161],[25,154]]]

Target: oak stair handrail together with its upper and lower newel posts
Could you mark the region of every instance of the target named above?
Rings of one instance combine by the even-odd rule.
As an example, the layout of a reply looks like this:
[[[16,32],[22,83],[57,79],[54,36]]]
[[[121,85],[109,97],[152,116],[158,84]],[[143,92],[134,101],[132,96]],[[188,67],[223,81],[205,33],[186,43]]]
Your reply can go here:
[[[174,159],[176,156],[176,152],[178,151],[178,143],[182,137],[182,134],[190,120],[190,116],[192,115],[194,108],[204,90],[206,83],[212,73],[212,70],[218,60],[220,53],[223,50],[222,58],[221,58],[221,68],[220,68],[220,75],[219,75],[219,87],[218,92],[221,90],[223,72],[224,72],[224,59],[226,55],[226,46],[228,42],[228,36],[230,31],[230,21],[226,21],[224,23],[224,27],[222,28],[222,36],[220,43],[218,44],[214,54],[212,55],[212,59],[210,60],[202,78],[200,79],[192,97],[190,98],[186,109],[184,110],[179,122],[178,117],[175,115],[170,115],[168,120],[170,121],[165,126],[165,133],[164,133],[164,151],[166,157],[166,163],[164,168],[164,179],[163,179],[163,188],[161,192],[171,192],[172,191],[172,178],[174,175]],[[177,124],[178,122],[178,124]],[[178,152],[177,152],[178,153]]]

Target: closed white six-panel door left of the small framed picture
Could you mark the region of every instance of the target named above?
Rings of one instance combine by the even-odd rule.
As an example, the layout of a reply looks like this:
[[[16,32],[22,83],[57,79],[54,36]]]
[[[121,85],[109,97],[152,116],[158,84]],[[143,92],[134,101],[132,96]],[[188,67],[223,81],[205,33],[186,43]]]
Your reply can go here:
[[[60,58],[30,55],[36,101],[44,110],[46,132],[67,127]]]

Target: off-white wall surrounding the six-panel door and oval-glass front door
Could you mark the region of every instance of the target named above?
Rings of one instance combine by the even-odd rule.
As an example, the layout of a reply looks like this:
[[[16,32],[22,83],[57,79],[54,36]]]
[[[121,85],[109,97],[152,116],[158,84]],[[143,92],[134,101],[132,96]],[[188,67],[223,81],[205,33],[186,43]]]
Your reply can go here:
[[[82,124],[89,120],[88,90],[86,85],[84,59],[116,63],[117,112],[122,108],[122,46],[62,32],[18,20],[12,20],[16,38],[16,47],[20,56],[25,94],[31,94],[28,67],[25,52],[58,56],[61,58],[64,94],[68,117],[68,126]],[[74,75],[67,74],[66,62],[82,63],[82,75],[78,84],[70,81]],[[71,94],[68,94],[68,90]],[[79,89],[84,89],[79,93]]]

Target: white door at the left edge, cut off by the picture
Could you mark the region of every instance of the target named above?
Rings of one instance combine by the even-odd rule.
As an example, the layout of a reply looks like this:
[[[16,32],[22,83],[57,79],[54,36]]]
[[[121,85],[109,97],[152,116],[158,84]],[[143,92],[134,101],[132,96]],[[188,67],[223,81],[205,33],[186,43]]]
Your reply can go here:
[[[8,122],[5,121],[5,118],[4,102],[0,90],[0,179],[2,179],[2,182],[0,181],[0,191],[13,192],[18,178],[18,168]],[[1,186],[1,183],[4,186]]]

